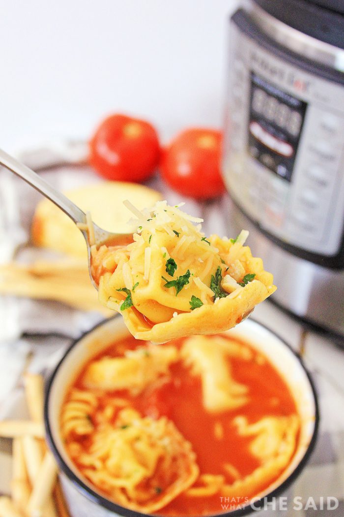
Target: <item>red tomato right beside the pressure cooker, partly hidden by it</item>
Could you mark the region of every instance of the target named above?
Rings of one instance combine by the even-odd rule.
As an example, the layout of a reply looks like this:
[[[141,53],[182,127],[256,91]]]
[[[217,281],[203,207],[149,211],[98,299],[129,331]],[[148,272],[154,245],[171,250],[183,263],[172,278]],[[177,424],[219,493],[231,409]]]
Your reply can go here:
[[[224,192],[220,174],[222,134],[214,129],[183,131],[163,151],[162,177],[177,192],[211,199]]]

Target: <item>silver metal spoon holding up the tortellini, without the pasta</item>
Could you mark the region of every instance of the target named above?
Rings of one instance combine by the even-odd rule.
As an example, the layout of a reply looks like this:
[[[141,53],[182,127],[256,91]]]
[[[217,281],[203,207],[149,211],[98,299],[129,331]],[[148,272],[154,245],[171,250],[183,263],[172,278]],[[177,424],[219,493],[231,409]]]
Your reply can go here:
[[[0,165],[3,165],[9,171],[20,176],[26,183],[34,187],[45,197],[50,199],[56,206],[61,208],[65,214],[67,214],[75,224],[82,223],[86,224],[86,214],[83,210],[80,210],[78,206],[72,203],[71,200],[68,199],[65,195],[63,195],[58,190],[54,189],[45,179],[39,176],[36,172],[29,169],[26,165],[19,162],[12,156],[8,155],[0,149]],[[92,223],[94,227],[94,239],[95,245],[97,248],[99,246],[105,244],[107,246],[118,246],[125,245],[128,242],[132,242],[133,234],[125,234],[125,233],[111,233],[103,230],[95,223]],[[80,229],[79,229],[80,230]],[[80,232],[84,235],[86,244],[87,244],[87,253],[88,253],[88,269],[90,273],[91,282],[94,287],[97,289],[98,284],[92,277],[91,273],[91,246],[88,238],[88,233],[86,230],[80,230]]]

